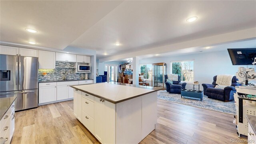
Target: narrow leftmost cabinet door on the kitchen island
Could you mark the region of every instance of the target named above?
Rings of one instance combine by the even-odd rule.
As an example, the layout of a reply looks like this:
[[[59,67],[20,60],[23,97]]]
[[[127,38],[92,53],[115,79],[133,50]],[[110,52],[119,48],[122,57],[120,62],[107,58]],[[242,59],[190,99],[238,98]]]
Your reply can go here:
[[[79,90],[74,89],[74,115],[76,116],[76,118],[78,118],[78,120],[81,121],[82,118],[82,100],[79,102],[79,99],[82,99],[82,92]],[[81,103],[81,104],[79,104]],[[79,117],[79,106],[80,107],[80,111],[81,111],[81,116]],[[80,119],[79,119],[80,118]]]

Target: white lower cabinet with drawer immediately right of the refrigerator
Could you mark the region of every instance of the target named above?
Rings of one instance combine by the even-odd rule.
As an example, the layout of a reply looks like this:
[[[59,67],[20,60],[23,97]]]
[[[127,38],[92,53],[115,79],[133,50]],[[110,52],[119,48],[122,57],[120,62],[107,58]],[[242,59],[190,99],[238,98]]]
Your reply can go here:
[[[39,83],[39,104],[57,100],[56,82]]]

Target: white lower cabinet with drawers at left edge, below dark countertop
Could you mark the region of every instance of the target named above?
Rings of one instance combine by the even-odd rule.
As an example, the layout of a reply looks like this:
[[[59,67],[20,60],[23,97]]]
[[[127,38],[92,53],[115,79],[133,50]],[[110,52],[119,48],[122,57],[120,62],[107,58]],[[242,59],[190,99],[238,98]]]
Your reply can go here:
[[[14,103],[11,105],[11,107],[7,110],[5,116],[1,119],[1,131],[0,131],[0,143],[1,144],[10,144],[12,140],[12,136],[14,133],[15,128],[15,108]]]

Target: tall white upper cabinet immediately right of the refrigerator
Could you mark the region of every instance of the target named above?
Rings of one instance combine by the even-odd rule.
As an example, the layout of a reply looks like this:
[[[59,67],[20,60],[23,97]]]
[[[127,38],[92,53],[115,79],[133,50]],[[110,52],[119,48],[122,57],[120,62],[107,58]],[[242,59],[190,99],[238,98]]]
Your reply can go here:
[[[55,52],[39,50],[39,69],[55,69]]]

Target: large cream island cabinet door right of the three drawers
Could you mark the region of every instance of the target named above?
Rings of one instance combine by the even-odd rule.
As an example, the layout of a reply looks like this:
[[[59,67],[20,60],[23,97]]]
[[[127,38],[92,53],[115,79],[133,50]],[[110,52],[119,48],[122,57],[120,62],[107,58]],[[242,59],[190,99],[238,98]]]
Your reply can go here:
[[[102,144],[116,143],[116,104],[94,97],[94,136]]]

